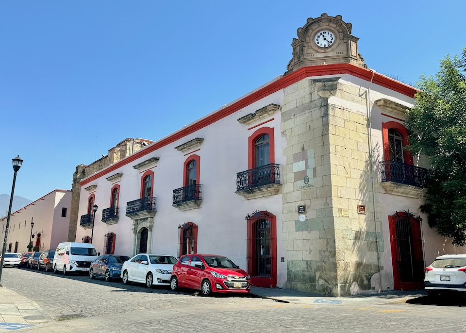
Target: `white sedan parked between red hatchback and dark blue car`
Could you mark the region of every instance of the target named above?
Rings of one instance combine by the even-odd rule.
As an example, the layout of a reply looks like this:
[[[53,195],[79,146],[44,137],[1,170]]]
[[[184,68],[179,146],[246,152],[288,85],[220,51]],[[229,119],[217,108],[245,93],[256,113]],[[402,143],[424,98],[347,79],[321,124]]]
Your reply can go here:
[[[121,278],[125,284],[146,283],[148,288],[153,285],[170,285],[171,272],[176,262],[175,257],[166,254],[136,254],[123,263]]]

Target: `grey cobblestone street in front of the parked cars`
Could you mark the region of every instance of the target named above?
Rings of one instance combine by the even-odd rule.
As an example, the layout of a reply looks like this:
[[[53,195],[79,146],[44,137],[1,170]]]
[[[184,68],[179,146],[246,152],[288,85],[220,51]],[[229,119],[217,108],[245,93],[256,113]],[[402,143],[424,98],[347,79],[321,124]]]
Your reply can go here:
[[[206,298],[189,290],[173,293],[143,284],[16,268],[4,269],[1,282],[36,302],[53,319],[77,318],[61,321],[72,332],[466,332],[461,306]]]

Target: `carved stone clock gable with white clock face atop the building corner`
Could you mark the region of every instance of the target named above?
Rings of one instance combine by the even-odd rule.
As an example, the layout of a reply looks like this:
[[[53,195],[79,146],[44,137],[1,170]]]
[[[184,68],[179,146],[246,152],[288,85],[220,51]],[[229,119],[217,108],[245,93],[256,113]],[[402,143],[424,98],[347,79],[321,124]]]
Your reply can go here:
[[[340,15],[322,14],[308,18],[298,29],[298,39],[293,38],[293,59],[286,67],[289,74],[301,67],[350,63],[367,68],[358,52],[359,38],[351,35],[351,23],[345,23]]]

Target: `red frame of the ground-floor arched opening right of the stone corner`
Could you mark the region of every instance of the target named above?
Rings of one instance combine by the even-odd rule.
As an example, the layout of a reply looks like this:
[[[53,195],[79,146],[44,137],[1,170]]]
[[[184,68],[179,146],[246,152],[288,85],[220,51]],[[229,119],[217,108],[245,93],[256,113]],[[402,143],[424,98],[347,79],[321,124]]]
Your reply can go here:
[[[421,228],[420,228],[420,221],[415,218],[414,216],[408,216],[405,212],[397,212],[392,216],[388,216],[388,226],[390,229],[390,247],[392,250],[392,267],[393,267],[393,289],[395,290],[417,290],[424,288],[423,282],[401,282],[400,275],[399,275],[399,267],[398,267],[398,238],[397,238],[397,230],[396,230],[396,222],[400,218],[405,218],[410,220],[411,222],[411,230],[412,234],[415,234],[419,238],[419,243],[417,244],[418,251],[422,255],[422,259],[424,259],[424,251],[422,250],[422,235],[421,235]],[[416,245],[416,244],[414,244]]]

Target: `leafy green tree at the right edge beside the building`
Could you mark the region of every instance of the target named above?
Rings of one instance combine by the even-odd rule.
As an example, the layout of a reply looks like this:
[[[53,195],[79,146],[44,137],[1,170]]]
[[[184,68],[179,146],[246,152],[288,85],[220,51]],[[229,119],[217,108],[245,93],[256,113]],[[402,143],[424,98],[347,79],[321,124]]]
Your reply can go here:
[[[421,212],[437,233],[466,244],[466,48],[440,70],[421,76],[416,105],[407,112],[408,151],[428,156],[426,203]]]

